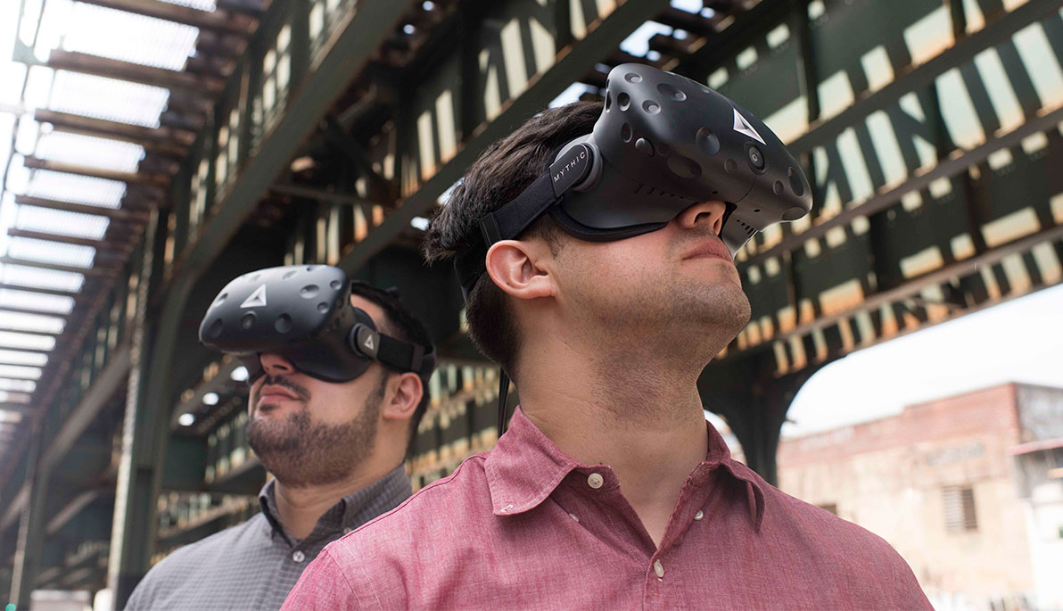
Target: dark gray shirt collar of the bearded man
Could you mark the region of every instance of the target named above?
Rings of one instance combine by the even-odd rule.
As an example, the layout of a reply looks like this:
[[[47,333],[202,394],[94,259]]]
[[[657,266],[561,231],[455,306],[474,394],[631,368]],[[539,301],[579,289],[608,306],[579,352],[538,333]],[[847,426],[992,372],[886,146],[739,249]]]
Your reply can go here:
[[[340,498],[336,505],[333,505],[318,519],[315,530],[321,527],[325,527],[330,531],[357,528],[381,513],[376,508],[395,507],[410,493],[411,487],[409,478],[406,477],[406,469],[400,464],[366,488]],[[266,486],[263,486],[258,493],[258,504],[261,506],[263,515],[269,522],[272,532],[281,533],[287,538],[276,509],[276,479],[271,477]]]

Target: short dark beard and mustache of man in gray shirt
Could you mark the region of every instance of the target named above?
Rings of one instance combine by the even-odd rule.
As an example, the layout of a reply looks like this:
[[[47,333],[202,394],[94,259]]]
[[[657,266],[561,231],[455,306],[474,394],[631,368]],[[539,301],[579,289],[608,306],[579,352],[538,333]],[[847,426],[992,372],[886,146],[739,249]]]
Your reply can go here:
[[[287,418],[252,418],[248,423],[248,444],[277,481],[292,488],[323,486],[349,477],[366,460],[376,439],[376,422],[387,383],[381,375],[376,389],[366,397],[358,415],[341,424],[315,422],[310,417],[310,393],[283,376],[268,376],[266,385],[283,386],[303,401]],[[257,406],[252,391],[251,405]]]

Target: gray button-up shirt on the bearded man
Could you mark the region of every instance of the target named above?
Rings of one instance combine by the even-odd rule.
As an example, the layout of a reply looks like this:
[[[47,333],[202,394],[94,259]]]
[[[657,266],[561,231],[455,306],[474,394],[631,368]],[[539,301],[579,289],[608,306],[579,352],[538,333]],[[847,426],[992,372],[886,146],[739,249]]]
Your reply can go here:
[[[126,609],[280,609],[303,568],[325,545],[394,509],[410,495],[402,466],[326,511],[301,540],[277,519],[274,480],[258,493],[261,513],[186,545],[156,564]]]

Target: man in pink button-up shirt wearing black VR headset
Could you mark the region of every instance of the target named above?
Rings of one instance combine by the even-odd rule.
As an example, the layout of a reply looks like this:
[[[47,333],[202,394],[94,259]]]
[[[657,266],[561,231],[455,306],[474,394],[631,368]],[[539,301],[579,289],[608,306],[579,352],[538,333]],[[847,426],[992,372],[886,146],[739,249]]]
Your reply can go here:
[[[457,259],[521,406],[285,609],[929,609],[888,543],[731,459],[703,414],[697,378],[749,318],[732,254],[809,191],[756,117],[645,66],[492,146],[424,250]]]

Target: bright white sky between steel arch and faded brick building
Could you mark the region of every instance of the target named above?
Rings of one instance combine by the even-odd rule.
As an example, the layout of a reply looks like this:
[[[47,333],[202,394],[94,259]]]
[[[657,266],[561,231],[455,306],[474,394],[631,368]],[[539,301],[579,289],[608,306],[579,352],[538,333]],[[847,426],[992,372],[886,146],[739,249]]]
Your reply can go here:
[[[899,413],[1006,381],[1063,387],[1063,286],[855,352],[794,397],[783,437]]]

